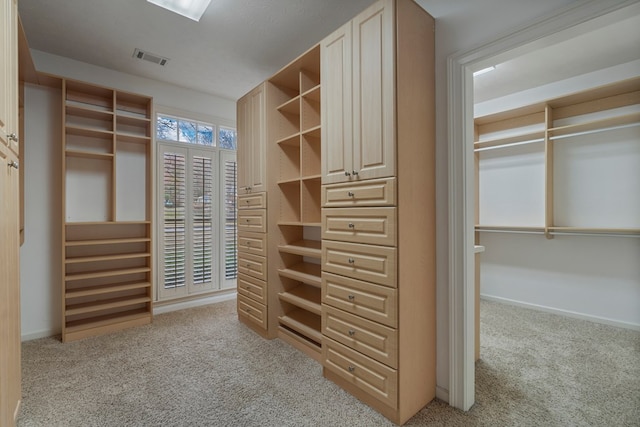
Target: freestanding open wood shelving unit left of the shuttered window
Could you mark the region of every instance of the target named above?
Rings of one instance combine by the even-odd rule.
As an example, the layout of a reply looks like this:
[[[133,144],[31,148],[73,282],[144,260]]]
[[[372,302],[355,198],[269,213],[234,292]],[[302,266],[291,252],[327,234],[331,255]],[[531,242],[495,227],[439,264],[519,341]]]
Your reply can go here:
[[[62,340],[151,322],[152,100],[62,80]]]

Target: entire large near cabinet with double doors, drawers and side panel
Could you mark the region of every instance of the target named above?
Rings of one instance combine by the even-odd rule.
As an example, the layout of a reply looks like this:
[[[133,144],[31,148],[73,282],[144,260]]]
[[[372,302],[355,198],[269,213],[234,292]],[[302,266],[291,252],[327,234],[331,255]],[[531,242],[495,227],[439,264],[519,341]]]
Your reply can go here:
[[[323,372],[399,424],[435,397],[433,28],[382,0],[321,43]]]

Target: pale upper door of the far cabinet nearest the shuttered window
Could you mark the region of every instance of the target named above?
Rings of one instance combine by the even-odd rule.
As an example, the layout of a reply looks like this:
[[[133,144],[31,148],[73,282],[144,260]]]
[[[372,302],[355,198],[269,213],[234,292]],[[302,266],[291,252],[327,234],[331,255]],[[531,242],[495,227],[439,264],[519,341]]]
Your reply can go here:
[[[238,194],[267,190],[264,84],[238,100]]]

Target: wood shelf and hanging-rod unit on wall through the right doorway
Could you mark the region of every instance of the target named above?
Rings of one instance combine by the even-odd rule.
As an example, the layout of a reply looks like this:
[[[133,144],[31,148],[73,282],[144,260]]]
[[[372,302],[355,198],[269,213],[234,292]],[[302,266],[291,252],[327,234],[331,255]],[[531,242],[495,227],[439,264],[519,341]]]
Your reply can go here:
[[[640,78],[477,117],[475,131],[476,231],[640,236]]]

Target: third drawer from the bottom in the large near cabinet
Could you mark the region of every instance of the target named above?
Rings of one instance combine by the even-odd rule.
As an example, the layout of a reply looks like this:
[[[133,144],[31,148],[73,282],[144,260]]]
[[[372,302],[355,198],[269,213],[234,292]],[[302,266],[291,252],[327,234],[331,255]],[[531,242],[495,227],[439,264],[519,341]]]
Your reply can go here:
[[[397,289],[324,272],[322,302],[392,328],[398,326]]]

